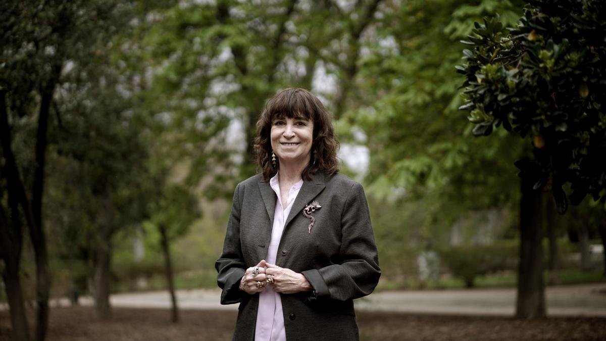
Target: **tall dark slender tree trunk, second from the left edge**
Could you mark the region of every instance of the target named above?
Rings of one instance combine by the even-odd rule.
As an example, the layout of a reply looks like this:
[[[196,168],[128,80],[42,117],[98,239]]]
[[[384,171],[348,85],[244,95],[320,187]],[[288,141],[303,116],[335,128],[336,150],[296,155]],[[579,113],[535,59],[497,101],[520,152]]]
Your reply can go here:
[[[48,274],[48,252],[42,228],[42,194],[44,189],[44,165],[47,146],[48,112],[55,92],[55,83],[50,82],[41,90],[42,100],[38,115],[36,137],[36,170],[32,191],[32,212],[35,226],[30,226],[30,238],[36,260],[36,340],[44,341],[48,329],[48,297],[50,275]]]

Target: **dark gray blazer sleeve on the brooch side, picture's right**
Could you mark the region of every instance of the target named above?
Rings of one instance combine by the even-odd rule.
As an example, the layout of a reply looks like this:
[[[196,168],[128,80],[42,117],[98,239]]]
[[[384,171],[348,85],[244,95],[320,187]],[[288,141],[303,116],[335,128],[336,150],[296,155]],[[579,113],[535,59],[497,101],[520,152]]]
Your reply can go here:
[[[375,236],[364,189],[354,183],[341,213],[338,264],[303,271],[313,286],[311,300],[353,300],[373,292],[381,277]]]

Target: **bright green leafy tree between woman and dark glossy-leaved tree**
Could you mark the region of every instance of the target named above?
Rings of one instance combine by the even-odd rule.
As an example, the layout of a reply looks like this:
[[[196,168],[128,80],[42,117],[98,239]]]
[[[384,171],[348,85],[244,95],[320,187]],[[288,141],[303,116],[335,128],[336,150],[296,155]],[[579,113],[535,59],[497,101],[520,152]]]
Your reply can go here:
[[[407,237],[378,238],[378,243],[399,245],[404,254],[427,241],[448,243],[451,226],[470,210],[518,210],[512,203],[519,193],[508,184],[515,175],[507,169],[521,144],[506,134],[493,141],[466,137],[471,129],[457,110],[460,80],[453,72],[460,59],[456,41],[473,20],[499,10],[513,24],[516,6],[508,1],[379,6],[362,40],[364,53],[351,87],[356,95],[337,123],[341,141],[370,149],[368,193],[406,217],[375,229]],[[365,136],[359,139],[356,130]]]

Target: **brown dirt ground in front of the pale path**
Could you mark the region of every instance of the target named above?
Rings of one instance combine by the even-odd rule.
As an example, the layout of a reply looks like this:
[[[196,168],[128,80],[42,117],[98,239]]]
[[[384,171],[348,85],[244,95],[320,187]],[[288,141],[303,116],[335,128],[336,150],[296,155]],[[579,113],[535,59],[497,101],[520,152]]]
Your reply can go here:
[[[48,341],[231,340],[235,311],[181,311],[168,322],[168,309],[114,308],[100,322],[89,307],[53,308]],[[571,317],[518,321],[469,317],[359,312],[362,340],[606,340],[606,318]],[[0,341],[13,340],[8,311],[0,311]]]

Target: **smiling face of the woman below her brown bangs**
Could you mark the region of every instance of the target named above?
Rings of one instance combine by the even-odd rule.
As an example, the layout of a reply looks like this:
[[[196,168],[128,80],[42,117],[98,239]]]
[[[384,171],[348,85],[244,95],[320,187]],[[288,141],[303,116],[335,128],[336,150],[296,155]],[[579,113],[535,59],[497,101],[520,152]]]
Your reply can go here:
[[[313,121],[305,118],[275,118],[271,122],[271,149],[281,166],[309,163]]]

